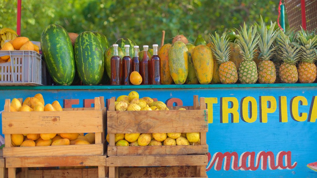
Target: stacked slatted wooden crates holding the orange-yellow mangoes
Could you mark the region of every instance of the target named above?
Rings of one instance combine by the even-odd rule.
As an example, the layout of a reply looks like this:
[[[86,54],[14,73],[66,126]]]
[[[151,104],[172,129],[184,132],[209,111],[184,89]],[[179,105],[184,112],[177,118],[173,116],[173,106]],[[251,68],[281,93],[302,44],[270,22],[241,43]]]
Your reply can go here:
[[[10,112],[10,99],[6,99],[2,131],[9,178],[16,176],[18,167],[23,168],[23,175],[27,177],[28,167],[54,166],[98,166],[99,177],[105,177],[107,109],[103,97],[96,97],[94,105],[94,108],[64,108],[63,111]],[[94,132],[95,144],[46,147],[13,147],[11,144],[11,134],[83,132]]]

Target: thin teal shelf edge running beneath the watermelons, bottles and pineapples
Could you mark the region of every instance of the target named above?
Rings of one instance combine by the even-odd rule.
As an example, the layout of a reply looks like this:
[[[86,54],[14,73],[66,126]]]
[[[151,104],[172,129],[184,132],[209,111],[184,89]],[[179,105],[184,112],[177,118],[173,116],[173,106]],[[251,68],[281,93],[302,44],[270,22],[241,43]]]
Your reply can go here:
[[[132,90],[132,89],[199,89],[199,88],[284,88],[317,87],[317,83],[274,84],[184,84],[184,85],[93,85],[93,86],[0,86],[0,90]]]

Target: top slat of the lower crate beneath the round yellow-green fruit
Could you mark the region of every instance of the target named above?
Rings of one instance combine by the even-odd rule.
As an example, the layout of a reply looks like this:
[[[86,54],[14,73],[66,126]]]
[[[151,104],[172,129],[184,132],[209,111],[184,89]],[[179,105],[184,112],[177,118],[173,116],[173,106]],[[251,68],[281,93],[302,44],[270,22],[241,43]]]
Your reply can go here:
[[[207,165],[206,155],[110,156],[107,166],[198,166]],[[110,172],[109,172],[110,173]],[[109,177],[110,178],[110,177]]]

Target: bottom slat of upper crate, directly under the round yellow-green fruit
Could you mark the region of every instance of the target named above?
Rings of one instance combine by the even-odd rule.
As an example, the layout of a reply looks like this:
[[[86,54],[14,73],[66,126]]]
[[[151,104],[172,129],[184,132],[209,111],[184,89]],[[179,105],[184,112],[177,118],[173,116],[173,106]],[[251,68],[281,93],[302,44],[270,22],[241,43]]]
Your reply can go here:
[[[108,156],[207,154],[208,145],[178,146],[108,146]]]

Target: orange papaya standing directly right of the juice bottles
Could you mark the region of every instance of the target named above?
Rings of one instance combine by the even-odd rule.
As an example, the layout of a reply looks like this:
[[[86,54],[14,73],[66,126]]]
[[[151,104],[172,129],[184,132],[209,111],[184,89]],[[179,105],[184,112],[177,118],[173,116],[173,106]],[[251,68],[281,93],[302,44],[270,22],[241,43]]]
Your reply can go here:
[[[161,82],[165,85],[173,83],[170,67],[168,64],[168,50],[171,48],[171,46],[172,45],[168,43],[163,45],[159,50],[159,57],[161,58]]]

